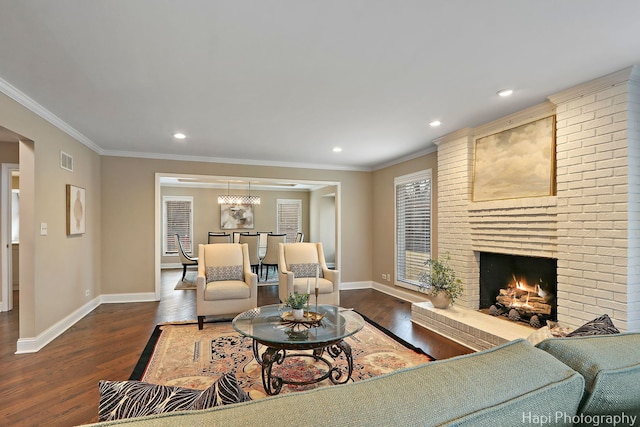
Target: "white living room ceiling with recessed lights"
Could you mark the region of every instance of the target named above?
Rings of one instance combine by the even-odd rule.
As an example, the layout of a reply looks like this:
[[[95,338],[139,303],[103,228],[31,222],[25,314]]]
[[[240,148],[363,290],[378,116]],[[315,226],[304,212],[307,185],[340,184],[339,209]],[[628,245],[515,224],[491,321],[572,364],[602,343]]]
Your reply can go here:
[[[0,90],[108,155],[371,170],[633,64],[638,0],[0,0]]]

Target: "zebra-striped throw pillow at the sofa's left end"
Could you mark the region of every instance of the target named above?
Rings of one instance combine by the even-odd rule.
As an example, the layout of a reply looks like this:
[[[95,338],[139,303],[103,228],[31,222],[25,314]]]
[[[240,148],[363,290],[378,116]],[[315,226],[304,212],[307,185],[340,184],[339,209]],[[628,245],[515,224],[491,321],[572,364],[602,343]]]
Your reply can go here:
[[[251,400],[233,373],[206,390],[149,384],[141,381],[100,381],[100,421],[143,417],[172,411],[206,409]]]

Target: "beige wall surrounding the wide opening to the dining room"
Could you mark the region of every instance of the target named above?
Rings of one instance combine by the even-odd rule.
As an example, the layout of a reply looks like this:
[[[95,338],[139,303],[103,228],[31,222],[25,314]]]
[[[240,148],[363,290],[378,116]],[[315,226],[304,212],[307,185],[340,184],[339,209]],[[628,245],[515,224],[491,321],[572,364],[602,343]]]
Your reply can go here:
[[[154,292],[155,174],[339,182],[344,282],[371,280],[371,173],[101,157],[102,293]],[[126,246],[122,242],[126,242]]]

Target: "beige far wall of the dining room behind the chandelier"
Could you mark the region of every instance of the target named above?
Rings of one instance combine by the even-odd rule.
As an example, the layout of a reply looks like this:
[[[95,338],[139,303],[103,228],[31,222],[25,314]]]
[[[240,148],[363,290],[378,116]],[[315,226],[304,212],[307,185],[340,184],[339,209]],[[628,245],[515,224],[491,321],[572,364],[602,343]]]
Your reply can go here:
[[[220,229],[220,205],[218,195],[227,194],[227,189],[213,188],[185,188],[185,187],[162,187],[162,196],[191,196],[193,197],[193,241],[194,250],[197,252],[198,244],[207,243],[207,233],[209,231],[223,231]],[[230,190],[230,194],[247,194],[246,191]],[[302,230],[309,233],[309,192],[308,191],[286,191],[286,190],[251,190],[251,195],[260,196],[260,204],[254,205],[254,228],[243,230],[224,230],[226,233],[233,232],[268,232],[277,231],[276,203],[277,199],[302,200]],[[162,248],[160,248],[162,252]],[[162,256],[162,254],[161,254]],[[197,253],[194,256],[198,256]],[[180,262],[178,256],[162,256],[162,264]]]

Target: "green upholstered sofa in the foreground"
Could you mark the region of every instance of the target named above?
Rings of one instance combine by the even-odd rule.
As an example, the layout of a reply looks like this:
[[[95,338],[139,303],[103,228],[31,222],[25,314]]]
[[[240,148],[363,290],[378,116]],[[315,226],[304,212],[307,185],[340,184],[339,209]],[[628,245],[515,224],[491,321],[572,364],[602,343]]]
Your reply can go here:
[[[640,414],[639,376],[640,334],[515,340],[357,383],[97,425],[607,425]]]

